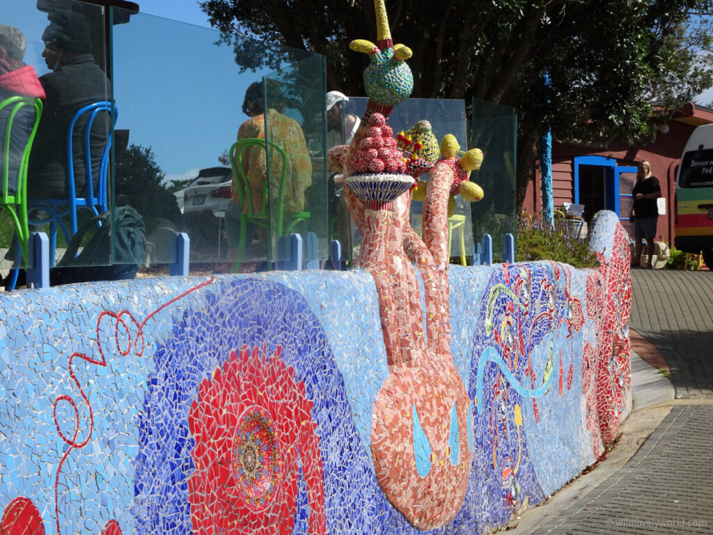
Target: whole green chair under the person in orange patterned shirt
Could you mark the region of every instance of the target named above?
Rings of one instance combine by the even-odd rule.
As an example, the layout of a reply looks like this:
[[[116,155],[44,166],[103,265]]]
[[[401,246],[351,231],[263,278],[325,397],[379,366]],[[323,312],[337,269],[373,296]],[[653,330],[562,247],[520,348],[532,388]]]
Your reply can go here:
[[[252,201],[252,195],[250,195],[250,183],[247,180],[247,173],[245,172],[245,165],[243,165],[242,157],[245,153],[245,149],[250,147],[260,147],[263,151],[267,153],[267,147],[273,149],[274,152],[271,154],[277,154],[278,158],[281,158],[282,171],[279,174],[279,189],[277,193],[277,199],[270,199],[270,182],[271,180],[265,179],[265,185],[262,189],[262,208],[260,210],[255,209],[255,203]],[[247,225],[253,223],[255,225],[260,225],[263,228],[267,228],[270,231],[270,236],[275,235],[280,238],[284,235],[289,235],[297,223],[303,223],[309,220],[311,214],[309,212],[299,212],[294,214],[284,215],[284,182],[287,177],[287,153],[284,149],[273,143],[272,141],[265,141],[259,138],[246,138],[236,141],[230,147],[228,151],[230,156],[230,165],[232,167],[232,173],[235,176],[235,183],[238,188],[238,197],[240,199],[240,206],[242,210],[240,211],[240,241],[238,244],[237,258],[235,259],[235,264],[233,265],[233,270],[237,271],[240,269],[243,258],[245,258],[245,250],[247,249]],[[267,156],[267,155],[266,155]],[[269,174],[269,173],[268,173]],[[276,203],[276,205],[271,205],[271,203]],[[289,225],[287,228],[284,227],[285,220],[289,220]],[[268,247],[268,250],[272,248]],[[270,255],[268,255],[270,258]]]

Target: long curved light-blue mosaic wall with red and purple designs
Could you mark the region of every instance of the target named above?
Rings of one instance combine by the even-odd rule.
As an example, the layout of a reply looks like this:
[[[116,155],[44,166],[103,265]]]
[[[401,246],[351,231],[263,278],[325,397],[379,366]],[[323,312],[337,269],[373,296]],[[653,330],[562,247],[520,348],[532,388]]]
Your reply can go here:
[[[411,392],[415,418],[391,414],[416,486],[431,464],[457,478],[443,464],[470,459],[462,504],[426,532],[487,533],[615,435],[631,404],[624,238],[602,213],[600,270],[451,267],[466,417],[448,402],[450,449],[429,454],[420,403],[434,385]],[[390,370],[369,273],[166,277],[0,302],[0,533],[421,532],[374,468]]]

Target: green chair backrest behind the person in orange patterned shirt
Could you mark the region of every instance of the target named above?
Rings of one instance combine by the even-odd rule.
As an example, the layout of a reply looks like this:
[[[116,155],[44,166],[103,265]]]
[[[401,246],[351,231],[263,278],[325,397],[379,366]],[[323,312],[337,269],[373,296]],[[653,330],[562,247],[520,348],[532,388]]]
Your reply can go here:
[[[265,182],[262,188],[262,207],[260,210],[255,210],[255,203],[253,203],[252,195],[250,195],[250,183],[247,179],[245,165],[242,160],[245,154],[245,149],[249,147],[260,147],[262,151],[266,152]],[[274,207],[270,204],[270,180],[267,180],[267,177],[271,175],[271,164],[270,157],[267,156],[267,147],[275,149],[279,157],[282,158],[282,170],[279,173],[279,190],[277,199],[273,199],[273,201],[277,201],[277,206]],[[271,153],[271,155],[272,154],[274,153]],[[232,173],[235,175],[235,182],[237,183],[242,210],[247,208],[248,218],[270,220],[271,211],[275,209],[275,230],[277,231],[277,235],[281,236],[284,205],[284,181],[287,177],[287,153],[284,152],[284,148],[277,145],[277,143],[273,143],[272,141],[266,142],[264,139],[260,138],[245,138],[232,144],[230,151],[228,151],[228,156],[230,157]],[[274,165],[274,163],[272,165]]]

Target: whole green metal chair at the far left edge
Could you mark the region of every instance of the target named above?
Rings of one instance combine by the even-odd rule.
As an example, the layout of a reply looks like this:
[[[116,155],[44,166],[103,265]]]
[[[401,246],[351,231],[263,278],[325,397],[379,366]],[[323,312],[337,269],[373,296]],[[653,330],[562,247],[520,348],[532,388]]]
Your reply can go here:
[[[35,117],[29,138],[25,143],[19,161],[19,168],[13,177],[11,174],[14,173],[11,173],[10,168],[10,136],[17,113],[19,113],[24,106],[34,108]],[[27,222],[27,163],[30,158],[30,151],[37,131],[37,125],[39,125],[40,116],[42,115],[42,101],[39,98],[11,96],[0,102],[0,113],[2,113],[3,110],[9,110],[9,115],[4,125],[4,138],[2,147],[0,148],[2,151],[0,168],[2,196],[0,198],[0,207],[6,208],[12,215],[16,230],[16,239],[19,242],[22,256],[25,261],[27,261],[29,258],[27,243],[30,237]],[[11,186],[14,186],[14,188],[11,188]]]

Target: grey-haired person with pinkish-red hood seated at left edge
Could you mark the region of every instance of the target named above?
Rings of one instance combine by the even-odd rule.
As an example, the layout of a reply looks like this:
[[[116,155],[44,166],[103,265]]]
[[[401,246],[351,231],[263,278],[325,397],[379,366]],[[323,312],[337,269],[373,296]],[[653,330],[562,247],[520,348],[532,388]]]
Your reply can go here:
[[[27,41],[24,34],[13,26],[0,24],[0,103],[14,96],[45,98],[44,90],[35,69],[23,63]],[[14,105],[0,110],[0,147],[4,147],[5,129]],[[35,111],[23,106],[15,114],[10,131],[8,193],[16,193],[17,176],[22,154],[32,132]]]

